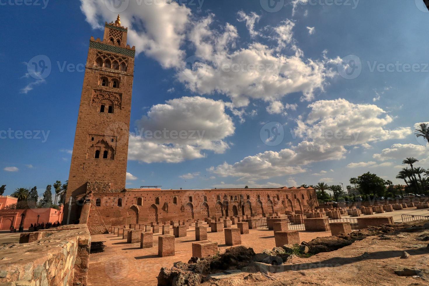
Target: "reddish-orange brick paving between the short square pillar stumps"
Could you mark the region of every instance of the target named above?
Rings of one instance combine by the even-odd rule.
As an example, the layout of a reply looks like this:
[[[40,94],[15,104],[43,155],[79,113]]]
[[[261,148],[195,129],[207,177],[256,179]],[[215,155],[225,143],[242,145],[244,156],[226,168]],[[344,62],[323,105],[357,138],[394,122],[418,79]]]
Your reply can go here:
[[[207,226],[204,223],[203,226]],[[236,228],[236,225],[232,226]],[[224,232],[210,232],[208,241],[218,243],[219,251],[224,252]],[[172,233],[172,230],[171,230]],[[192,256],[192,243],[195,242],[195,226],[187,230],[187,236],[175,238],[175,256],[158,257],[158,236],[154,234],[154,247],[140,249],[140,243],[127,244],[126,240],[115,235],[93,235],[92,241],[106,241],[103,253],[91,254],[88,271],[89,285],[157,285],[157,275],[161,267],[171,268],[174,262],[187,262]],[[331,232],[299,232],[301,241],[309,241],[317,236],[329,236]],[[253,247],[255,252],[275,247],[272,230],[250,229],[241,235],[242,244]]]

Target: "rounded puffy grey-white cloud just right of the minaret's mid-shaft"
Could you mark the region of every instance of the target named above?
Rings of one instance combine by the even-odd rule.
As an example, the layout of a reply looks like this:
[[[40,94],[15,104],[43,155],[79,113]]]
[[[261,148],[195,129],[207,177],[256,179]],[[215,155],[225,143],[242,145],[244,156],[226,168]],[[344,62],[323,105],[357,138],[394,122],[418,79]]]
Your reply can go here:
[[[225,103],[200,96],[154,105],[136,126],[128,159],[145,163],[179,163],[205,157],[203,151],[224,153],[230,147],[224,139],[235,131]]]

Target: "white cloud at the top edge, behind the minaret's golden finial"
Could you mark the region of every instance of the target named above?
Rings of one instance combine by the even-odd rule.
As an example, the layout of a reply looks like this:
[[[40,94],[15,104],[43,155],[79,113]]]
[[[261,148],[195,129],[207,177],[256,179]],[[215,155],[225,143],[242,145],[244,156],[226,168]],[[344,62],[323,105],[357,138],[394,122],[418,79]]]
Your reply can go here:
[[[129,1],[127,9],[121,12],[121,25],[128,27],[128,42],[136,46],[137,53],[144,52],[164,68],[183,66],[185,52],[181,46],[190,24],[190,9],[176,1],[144,3]],[[81,10],[93,29],[104,29],[106,20],[116,18],[104,0],[81,0]]]

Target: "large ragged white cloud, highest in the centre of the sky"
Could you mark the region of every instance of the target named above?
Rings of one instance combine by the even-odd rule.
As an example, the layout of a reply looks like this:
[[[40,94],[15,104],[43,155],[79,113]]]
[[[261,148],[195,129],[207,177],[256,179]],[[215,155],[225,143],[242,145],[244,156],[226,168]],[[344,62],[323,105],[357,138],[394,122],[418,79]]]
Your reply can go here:
[[[326,78],[335,74],[326,67],[327,59],[305,59],[298,49],[291,56],[260,42],[236,49],[236,27],[226,24],[212,30],[213,21],[209,15],[194,24],[189,38],[202,60],[177,75],[193,92],[225,94],[236,107],[247,106],[250,99],[273,102],[296,92],[303,93],[303,100],[311,100],[316,90],[323,90]],[[293,25],[286,21],[275,28],[278,45],[293,42]]]

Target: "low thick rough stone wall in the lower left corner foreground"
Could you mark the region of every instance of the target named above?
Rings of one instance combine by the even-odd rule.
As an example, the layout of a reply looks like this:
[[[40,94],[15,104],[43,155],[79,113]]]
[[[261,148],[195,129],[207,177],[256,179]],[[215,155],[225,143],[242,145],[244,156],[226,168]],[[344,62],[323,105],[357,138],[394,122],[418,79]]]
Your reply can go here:
[[[1,247],[1,285],[87,284],[91,236],[86,225],[24,232],[21,236],[21,244]],[[32,242],[23,243],[26,236]]]

